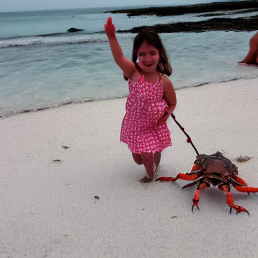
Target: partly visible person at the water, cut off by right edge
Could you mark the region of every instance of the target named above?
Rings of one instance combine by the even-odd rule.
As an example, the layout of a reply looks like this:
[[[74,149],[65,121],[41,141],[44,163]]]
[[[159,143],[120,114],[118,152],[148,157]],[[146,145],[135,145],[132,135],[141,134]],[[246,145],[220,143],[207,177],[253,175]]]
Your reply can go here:
[[[258,67],[258,32],[250,38],[249,52],[245,58],[238,62],[243,66],[255,66]]]

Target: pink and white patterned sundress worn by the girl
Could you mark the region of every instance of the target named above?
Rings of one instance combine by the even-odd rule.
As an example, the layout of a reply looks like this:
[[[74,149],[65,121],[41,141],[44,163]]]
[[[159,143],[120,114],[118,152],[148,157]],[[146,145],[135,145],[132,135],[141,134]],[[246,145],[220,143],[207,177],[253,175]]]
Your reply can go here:
[[[162,152],[172,146],[166,123],[158,124],[168,105],[163,97],[161,77],[159,82],[128,80],[129,95],[122,120],[120,141],[133,153]]]

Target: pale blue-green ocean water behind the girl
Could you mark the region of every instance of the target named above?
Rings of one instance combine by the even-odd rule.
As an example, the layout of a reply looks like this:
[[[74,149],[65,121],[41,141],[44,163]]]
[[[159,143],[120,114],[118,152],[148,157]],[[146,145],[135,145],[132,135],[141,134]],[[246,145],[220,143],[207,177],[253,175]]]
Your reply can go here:
[[[0,13],[0,116],[71,102],[124,97],[122,72],[113,61],[103,25],[114,8]],[[116,29],[213,17],[133,17],[112,14]],[[225,15],[244,17],[257,13]],[[220,16],[223,17],[223,16]],[[66,33],[71,28],[85,29]],[[175,89],[258,76],[239,66],[255,32],[160,34],[173,68]],[[49,35],[51,34],[51,35]],[[135,34],[117,34],[131,58]]]

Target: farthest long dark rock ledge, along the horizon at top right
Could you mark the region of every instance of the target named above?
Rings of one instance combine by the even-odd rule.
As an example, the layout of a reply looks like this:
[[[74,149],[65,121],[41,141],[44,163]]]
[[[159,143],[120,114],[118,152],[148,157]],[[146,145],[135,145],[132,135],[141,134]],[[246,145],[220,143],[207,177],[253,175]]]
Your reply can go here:
[[[208,13],[217,11],[234,11],[241,9],[258,8],[258,1],[239,1],[239,2],[216,2],[209,4],[199,4],[190,6],[168,6],[168,7],[150,7],[139,9],[124,9],[107,11],[104,13],[112,14],[127,14],[127,16],[139,16],[139,15],[156,15],[156,16],[172,16],[183,14],[197,14]]]

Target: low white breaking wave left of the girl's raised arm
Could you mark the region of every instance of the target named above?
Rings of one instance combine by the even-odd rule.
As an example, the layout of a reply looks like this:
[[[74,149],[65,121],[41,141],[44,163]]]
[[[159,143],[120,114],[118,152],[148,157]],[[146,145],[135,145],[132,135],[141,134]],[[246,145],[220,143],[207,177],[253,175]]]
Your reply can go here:
[[[0,40],[0,48],[24,46],[49,46],[63,44],[84,44],[92,42],[107,42],[104,38],[80,36],[22,37],[18,39]]]

